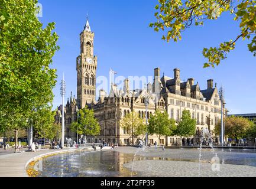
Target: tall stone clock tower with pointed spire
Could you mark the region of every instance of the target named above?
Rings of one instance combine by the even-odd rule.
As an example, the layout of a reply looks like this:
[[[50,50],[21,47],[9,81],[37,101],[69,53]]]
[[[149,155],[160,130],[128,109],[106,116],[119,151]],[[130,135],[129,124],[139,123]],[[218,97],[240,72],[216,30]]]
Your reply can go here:
[[[93,55],[94,33],[87,19],[80,33],[80,55],[76,58],[77,105],[80,109],[95,100],[97,57]]]

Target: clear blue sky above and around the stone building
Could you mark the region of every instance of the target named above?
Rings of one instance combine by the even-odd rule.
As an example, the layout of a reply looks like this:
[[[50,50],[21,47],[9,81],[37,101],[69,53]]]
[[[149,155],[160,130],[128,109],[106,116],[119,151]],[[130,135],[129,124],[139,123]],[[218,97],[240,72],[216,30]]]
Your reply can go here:
[[[76,95],[76,57],[80,53],[79,34],[89,14],[90,27],[95,32],[94,53],[98,56],[98,76],[109,76],[112,68],[117,76],[153,76],[160,67],[161,75],[173,77],[173,69],[180,69],[181,79],[193,77],[200,89],[206,89],[208,79],[218,88],[223,83],[229,113],[256,112],[256,57],[248,51],[247,40],[236,43],[234,51],[215,69],[203,69],[206,59],[203,47],[216,47],[223,41],[235,39],[239,22],[226,13],[217,20],[206,21],[202,27],[191,27],[182,34],[182,41],[166,43],[161,33],[148,27],[154,22],[154,6],[148,0],[41,0],[44,27],[56,22],[60,50],[53,57],[57,69],[54,89],[54,108],[61,103],[60,81],[64,72],[67,97]]]

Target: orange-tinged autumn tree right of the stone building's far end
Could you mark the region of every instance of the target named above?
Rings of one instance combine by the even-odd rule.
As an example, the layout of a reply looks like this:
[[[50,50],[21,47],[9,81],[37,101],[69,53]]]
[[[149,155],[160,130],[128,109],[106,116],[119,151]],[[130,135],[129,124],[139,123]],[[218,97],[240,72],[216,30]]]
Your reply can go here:
[[[246,138],[247,132],[251,128],[253,122],[247,118],[231,116],[224,119],[225,122],[225,136],[228,138],[235,138],[236,144],[239,143],[239,139]],[[215,126],[215,134],[220,135],[221,123]],[[224,136],[224,137],[225,137]]]

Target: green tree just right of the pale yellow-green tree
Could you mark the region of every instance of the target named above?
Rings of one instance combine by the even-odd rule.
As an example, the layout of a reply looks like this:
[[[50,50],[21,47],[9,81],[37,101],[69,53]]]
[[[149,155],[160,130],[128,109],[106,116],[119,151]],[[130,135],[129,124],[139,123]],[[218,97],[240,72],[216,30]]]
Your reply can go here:
[[[157,135],[159,145],[161,136],[171,136],[176,129],[175,120],[169,119],[166,111],[162,113],[156,110],[155,115],[150,116],[148,123],[148,133],[150,133],[150,135]]]

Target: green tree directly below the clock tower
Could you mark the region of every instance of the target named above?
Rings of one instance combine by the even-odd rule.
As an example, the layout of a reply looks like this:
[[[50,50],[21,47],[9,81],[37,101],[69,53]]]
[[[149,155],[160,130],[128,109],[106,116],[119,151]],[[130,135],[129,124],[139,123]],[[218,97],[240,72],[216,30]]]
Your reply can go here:
[[[85,134],[86,136],[99,135],[101,126],[94,116],[93,109],[85,108],[77,112],[77,120],[71,125],[71,130],[79,135]]]

